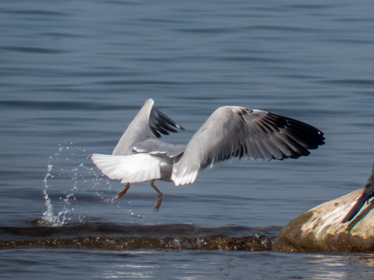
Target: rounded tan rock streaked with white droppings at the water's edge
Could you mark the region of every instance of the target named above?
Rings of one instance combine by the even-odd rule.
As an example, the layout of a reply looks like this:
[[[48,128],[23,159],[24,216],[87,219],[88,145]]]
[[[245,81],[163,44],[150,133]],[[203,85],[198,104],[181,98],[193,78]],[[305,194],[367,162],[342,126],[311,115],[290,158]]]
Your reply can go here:
[[[371,175],[373,172],[371,173]],[[366,186],[365,186],[366,187]],[[325,202],[292,220],[279,233],[278,252],[374,251],[374,200],[349,222],[341,223],[364,189]]]

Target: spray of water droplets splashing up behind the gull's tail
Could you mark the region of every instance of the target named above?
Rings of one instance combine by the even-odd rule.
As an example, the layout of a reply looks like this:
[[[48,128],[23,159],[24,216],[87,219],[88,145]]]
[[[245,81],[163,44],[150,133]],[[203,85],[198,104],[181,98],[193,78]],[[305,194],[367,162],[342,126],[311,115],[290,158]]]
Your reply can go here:
[[[58,152],[49,157],[43,190],[46,210],[39,224],[61,226],[82,223],[92,218],[95,220],[97,219],[95,217],[86,217],[87,214],[92,214],[92,204],[88,203],[88,200],[118,207],[120,211],[128,213],[132,218],[144,217],[135,214],[131,208],[126,209],[131,207],[131,202],[125,204],[125,209],[123,209],[123,201],[121,203],[115,199],[111,192],[111,182],[102,177],[100,172],[92,167],[92,164],[85,165],[86,161],[91,162],[91,155],[87,155],[85,149],[73,146],[72,143],[58,146]],[[51,191],[53,191],[52,196]],[[92,195],[99,197],[101,202],[98,202]]]

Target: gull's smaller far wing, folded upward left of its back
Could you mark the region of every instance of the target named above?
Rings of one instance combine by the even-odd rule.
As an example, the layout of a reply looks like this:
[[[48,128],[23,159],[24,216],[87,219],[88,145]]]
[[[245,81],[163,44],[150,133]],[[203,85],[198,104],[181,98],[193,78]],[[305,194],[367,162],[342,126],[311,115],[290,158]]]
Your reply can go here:
[[[141,141],[149,138],[160,138],[160,133],[177,132],[173,127],[184,130],[183,127],[159,109],[153,107],[153,104],[152,99],[145,101],[143,107],[123,133],[112,155],[131,155],[133,147]]]

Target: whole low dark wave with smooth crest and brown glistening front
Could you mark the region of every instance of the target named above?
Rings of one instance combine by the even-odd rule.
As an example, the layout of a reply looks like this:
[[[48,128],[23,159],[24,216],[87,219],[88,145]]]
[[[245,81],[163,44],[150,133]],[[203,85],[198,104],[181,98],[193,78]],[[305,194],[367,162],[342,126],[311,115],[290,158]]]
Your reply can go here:
[[[269,251],[281,227],[198,224],[79,223],[0,227],[0,250],[75,248]]]

